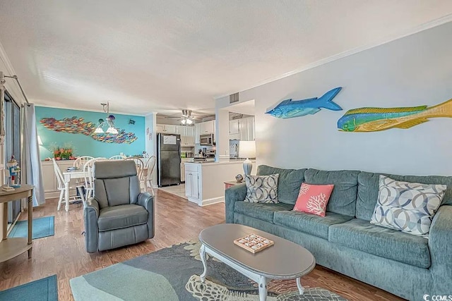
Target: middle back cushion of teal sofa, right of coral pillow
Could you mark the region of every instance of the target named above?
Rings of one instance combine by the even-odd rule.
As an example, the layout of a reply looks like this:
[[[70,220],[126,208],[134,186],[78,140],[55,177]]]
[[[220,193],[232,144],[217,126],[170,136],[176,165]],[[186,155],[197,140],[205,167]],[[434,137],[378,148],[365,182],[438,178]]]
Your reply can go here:
[[[333,184],[334,189],[331,193],[326,211],[354,217],[358,190],[358,174],[359,171],[319,171],[317,169],[308,169],[304,173],[304,182],[316,185]]]

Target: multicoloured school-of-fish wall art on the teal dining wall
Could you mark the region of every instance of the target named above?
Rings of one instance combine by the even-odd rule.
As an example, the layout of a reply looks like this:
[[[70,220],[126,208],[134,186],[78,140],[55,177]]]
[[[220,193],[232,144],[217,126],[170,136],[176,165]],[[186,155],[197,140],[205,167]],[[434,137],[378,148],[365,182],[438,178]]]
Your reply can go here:
[[[92,122],[85,122],[83,118],[63,118],[57,120],[55,118],[42,118],[40,123],[44,125],[44,128],[54,130],[62,133],[70,134],[83,134],[92,137],[96,141],[105,143],[126,143],[130,145],[133,141],[137,140],[133,133],[126,133],[125,130],[118,130],[117,135],[97,135],[94,133],[96,125]]]

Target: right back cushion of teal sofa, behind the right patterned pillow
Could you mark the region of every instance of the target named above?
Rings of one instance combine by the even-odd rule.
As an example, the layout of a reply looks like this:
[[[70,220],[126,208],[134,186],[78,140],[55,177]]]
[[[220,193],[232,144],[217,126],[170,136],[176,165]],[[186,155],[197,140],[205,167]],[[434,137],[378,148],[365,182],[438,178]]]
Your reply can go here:
[[[357,219],[370,221],[372,214],[374,214],[376,201],[379,198],[380,175],[387,176],[394,180],[403,180],[411,183],[447,185],[446,194],[444,195],[441,204],[452,205],[452,177],[450,176],[399,176],[387,173],[367,173],[362,171],[358,175],[358,196],[356,202]]]

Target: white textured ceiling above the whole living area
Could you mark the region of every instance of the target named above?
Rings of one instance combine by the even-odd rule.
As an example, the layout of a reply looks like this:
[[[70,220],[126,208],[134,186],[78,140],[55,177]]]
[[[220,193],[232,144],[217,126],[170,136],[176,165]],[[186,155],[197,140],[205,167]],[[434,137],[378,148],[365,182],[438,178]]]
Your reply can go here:
[[[36,104],[211,113],[214,97],[451,13],[448,0],[1,1],[0,42]]]

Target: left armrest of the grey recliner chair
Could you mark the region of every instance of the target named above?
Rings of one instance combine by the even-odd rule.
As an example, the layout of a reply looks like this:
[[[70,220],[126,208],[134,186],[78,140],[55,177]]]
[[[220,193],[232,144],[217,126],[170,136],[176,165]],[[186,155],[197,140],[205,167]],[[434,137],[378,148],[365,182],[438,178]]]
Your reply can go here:
[[[86,252],[97,252],[97,240],[99,238],[99,203],[94,197],[90,197],[83,204],[83,220],[85,223],[85,247]]]

